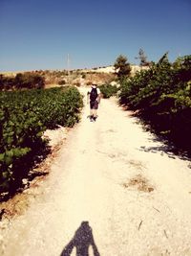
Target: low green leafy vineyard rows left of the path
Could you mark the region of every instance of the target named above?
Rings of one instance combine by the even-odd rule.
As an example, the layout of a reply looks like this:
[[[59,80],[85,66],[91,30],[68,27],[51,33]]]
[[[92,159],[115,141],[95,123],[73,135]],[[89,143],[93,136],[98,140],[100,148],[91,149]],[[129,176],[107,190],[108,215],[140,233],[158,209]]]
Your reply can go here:
[[[0,192],[19,186],[46,128],[73,127],[82,99],[74,87],[0,92]]]

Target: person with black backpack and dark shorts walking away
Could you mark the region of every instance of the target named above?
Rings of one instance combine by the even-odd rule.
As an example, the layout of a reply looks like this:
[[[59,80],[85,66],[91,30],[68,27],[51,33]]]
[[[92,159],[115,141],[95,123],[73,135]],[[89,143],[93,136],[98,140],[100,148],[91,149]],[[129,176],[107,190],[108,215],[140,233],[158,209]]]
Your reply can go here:
[[[97,109],[100,104],[101,92],[96,84],[87,93],[87,104],[90,104],[90,121],[96,121]]]

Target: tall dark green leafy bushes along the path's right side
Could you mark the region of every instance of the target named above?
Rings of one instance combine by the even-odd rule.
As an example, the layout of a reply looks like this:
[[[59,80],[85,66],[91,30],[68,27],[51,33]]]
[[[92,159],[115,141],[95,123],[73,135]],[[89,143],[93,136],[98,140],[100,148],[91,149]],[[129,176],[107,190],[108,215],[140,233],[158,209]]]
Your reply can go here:
[[[166,53],[149,70],[121,82],[119,97],[159,134],[191,151],[191,56],[170,63]]]

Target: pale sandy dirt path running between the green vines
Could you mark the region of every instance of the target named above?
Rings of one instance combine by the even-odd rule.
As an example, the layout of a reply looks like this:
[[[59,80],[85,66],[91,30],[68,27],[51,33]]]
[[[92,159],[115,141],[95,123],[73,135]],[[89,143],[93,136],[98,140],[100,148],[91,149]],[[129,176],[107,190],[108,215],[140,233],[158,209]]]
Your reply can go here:
[[[90,244],[96,256],[191,255],[189,162],[113,100],[102,100],[96,123],[88,114],[86,105],[43,194],[1,229],[0,255],[86,256]]]

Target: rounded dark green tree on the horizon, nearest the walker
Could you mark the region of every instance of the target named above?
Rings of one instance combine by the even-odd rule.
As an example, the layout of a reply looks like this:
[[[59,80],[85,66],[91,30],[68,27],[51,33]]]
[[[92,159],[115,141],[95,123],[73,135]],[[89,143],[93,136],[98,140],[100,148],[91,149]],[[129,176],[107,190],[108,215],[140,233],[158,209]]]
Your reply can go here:
[[[127,62],[127,58],[125,56],[119,55],[114,66],[119,80],[123,80],[131,73],[130,63]]]

